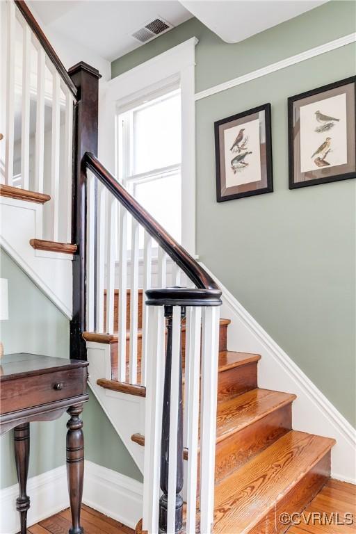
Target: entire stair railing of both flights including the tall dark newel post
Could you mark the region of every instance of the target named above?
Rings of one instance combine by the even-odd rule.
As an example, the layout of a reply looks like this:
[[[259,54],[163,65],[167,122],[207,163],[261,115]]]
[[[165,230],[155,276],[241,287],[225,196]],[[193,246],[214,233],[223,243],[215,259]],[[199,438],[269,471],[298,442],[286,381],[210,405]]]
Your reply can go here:
[[[1,187],[49,193],[44,236],[77,245],[71,356],[86,358],[85,330],[112,339],[117,335],[118,354],[111,361],[110,378],[140,382],[146,389],[143,529],[148,534],[172,534],[184,523],[188,534],[195,534],[196,528],[210,534],[220,289],[95,156],[99,72],[86,63],[66,72],[24,1],[1,3],[3,13],[7,70],[6,79],[1,79],[2,94],[6,94],[5,110],[1,107],[5,118]],[[19,173],[14,170],[18,30],[22,32]],[[35,73],[31,72],[33,54]],[[48,151],[46,105],[51,106]],[[47,152],[51,154],[48,172]],[[145,299],[142,317],[140,294]]]

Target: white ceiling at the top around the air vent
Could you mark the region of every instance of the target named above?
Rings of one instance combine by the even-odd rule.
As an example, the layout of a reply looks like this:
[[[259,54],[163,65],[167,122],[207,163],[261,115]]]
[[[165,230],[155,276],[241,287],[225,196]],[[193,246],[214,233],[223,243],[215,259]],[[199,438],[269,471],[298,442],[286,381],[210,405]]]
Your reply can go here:
[[[31,0],[44,29],[112,61],[140,46],[131,34],[156,17],[172,26],[195,16],[225,42],[238,42],[327,0]]]

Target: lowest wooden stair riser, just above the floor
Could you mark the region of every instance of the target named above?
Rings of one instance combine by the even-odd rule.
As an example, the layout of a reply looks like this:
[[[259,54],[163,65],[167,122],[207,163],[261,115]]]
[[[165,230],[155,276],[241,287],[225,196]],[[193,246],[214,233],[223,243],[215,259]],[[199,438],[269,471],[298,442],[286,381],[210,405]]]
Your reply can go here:
[[[241,534],[284,534],[288,531],[290,525],[284,525],[280,522],[279,517],[283,512],[293,514],[302,512],[305,507],[314,499],[316,494],[321,491],[322,487],[330,478],[331,452],[319,460],[319,462],[310,469],[300,482],[284,496],[277,506],[266,514],[263,520],[252,529]]]

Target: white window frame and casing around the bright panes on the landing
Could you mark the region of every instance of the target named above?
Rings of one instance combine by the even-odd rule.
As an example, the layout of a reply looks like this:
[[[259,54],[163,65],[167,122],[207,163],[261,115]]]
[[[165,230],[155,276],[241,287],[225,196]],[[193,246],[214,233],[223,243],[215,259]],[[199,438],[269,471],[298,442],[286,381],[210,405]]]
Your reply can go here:
[[[191,38],[109,81],[105,111],[104,161],[118,175],[118,111],[123,113],[150,95],[181,90],[181,244],[195,255],[195,45]]]

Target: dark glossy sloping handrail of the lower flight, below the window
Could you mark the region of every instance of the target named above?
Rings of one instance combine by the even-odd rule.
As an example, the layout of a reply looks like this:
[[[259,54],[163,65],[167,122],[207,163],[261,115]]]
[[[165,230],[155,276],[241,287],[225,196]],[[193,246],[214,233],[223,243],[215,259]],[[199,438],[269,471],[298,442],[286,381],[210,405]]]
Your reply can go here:
[[[94,154],[86,152],[83,157],[83,163],[89,168],[97,178],[104,184],[104,186],[110,191],[115,198],[118,199],[131,215],[138,220],[138,223],[142,225],[150,236],[152,236],[161,245],[161,248],[167,252],[168,256],[186,273],[189,279],[200,290],[195,289],[193,291],[200,293],[200,300],[209,298],[210,303],[216,299],[220,303],[221,291],[216,282],[211,278],[206,270],[200,266],[200,264],[191,257],[186,250],[175,241],[165,229],[157,223],[156,220],[137,202],[133,196],[125,189],[119,182],[111,175],[111,172],[102,165]],[[153,290],[151,290],[153,291]],[[162,291],[162,290],[161,290]],[[170,291],[170,290],[167,290]],[[187,290],[185,290],[187,291]],[[204,293],[204,294],[203,294]],[[185,296],[187,296],[185,294]],[[154,298],[153,295],[151,295]],[[172,294],[172,298],[173,294]],[[218,302],[216,302],[218,304]],[[204,305],[204,304],[200,304]]]

